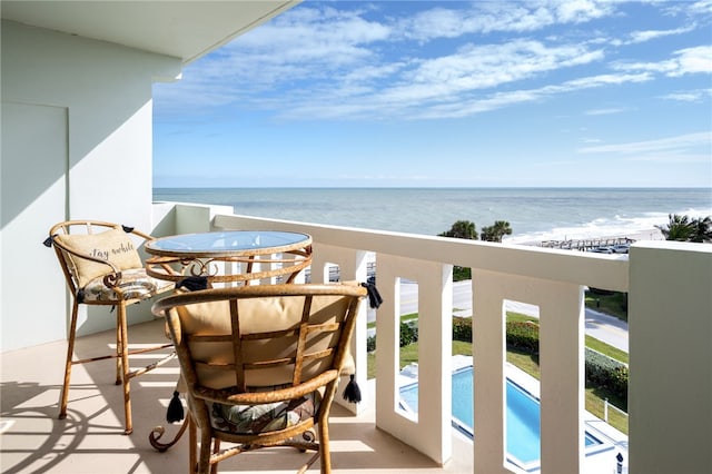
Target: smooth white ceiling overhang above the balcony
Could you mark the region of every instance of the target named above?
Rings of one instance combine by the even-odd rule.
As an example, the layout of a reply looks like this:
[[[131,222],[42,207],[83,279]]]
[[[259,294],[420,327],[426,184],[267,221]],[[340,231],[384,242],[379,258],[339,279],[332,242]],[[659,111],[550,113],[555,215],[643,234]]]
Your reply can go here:
[[[2,19],[180,58],[188,63],[299,0],[6,1]]]

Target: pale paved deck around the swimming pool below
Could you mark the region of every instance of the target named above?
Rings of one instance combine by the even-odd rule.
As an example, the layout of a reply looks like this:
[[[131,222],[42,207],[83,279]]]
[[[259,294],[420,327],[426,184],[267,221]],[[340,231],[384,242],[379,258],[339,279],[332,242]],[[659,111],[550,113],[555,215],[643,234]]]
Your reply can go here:
[[[472,366],[472,357],[468,356],[455,355],[452,361],[453,372]],[[536,398],[540,398],[540,383],[536,378],[508,363],[505,366],[505,372],[507,374],[507,378],[516,383]],[[412,364],[400,371],[400,386],[413,384],[415,381],[417,381],[417,364]],[[602,442],[600,446],[586,450],[584,461],[585,472],[592,474],[606,472],[614,473],[616,468],[615,457],[619,453],[624,460],[623,472],[627,472],[627,436],[589,412],[585,412],[584,414],[584,425],[589,434]],[[455,427],[453,431],[461,433]],[[512,465],[511,468],[514,472],[526,472],[532,474],[541,472],[538,464],[526,470],[521,470],[514,465]]]

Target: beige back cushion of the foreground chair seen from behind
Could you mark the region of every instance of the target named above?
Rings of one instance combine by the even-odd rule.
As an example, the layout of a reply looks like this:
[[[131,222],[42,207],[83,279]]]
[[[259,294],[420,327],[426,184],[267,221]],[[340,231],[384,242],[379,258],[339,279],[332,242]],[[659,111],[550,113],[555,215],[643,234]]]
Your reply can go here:
[[[245,385],[250,391],[259,387],[291,384],[294,359],[297,352],[306,296],[275,296],[237,300],[241,350],[245,364]],[[329,330],[309,330],[305,344],[306,359],[301,381],[332,368],[339,343],[340,323],[346,316],[350,298],[342,295],[314,295],[309,310],[309,325],[337,324]],[[236,385],[233,323],[227,300],[178,306],[180,332],[188,338],[188,347],[200,385],[226,388]],[[334,330],[335,329],[335,330]],[[260,334],[261,333],[261,334]],[[200,340],[196,336],[227,336],[222,340]],[[329,356],[309,358],[333,348]],[[258,367],[269,361],[291,361],[281,365]],[[238,368],[239,369],[239,368]]]

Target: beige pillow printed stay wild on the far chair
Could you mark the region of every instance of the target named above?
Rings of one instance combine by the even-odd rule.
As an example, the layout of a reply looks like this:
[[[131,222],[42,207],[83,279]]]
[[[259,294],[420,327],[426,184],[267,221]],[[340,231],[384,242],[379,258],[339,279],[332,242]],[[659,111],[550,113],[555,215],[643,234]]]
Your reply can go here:
[[[89,235],[58,235],[55,236],[60,245],[72,251],[89,255],[110,261],[119,270],[141,268],[141,257],[138,255],[130,236],[120,229],[110,229],[100,234]],[[70,270],[77,278],[77,284],[83,288],[95,278],[112,271],[109,265],[88,260],[69,254]]]

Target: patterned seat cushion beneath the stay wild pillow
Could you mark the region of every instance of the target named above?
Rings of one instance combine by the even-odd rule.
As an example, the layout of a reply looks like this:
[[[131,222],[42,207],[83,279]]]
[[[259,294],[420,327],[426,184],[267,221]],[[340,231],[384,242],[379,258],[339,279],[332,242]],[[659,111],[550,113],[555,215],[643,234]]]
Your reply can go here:
[[[146,299],[161,293],[172,285],[171,282],[162,282],[146,275],[144,268],[132,268],[121,271],[121,282],[118,287],[123,294],[119,298],[115,288],[103,284],[103,277],[97,277],[83,288],[85,302],[116,302],[119,299]]]

